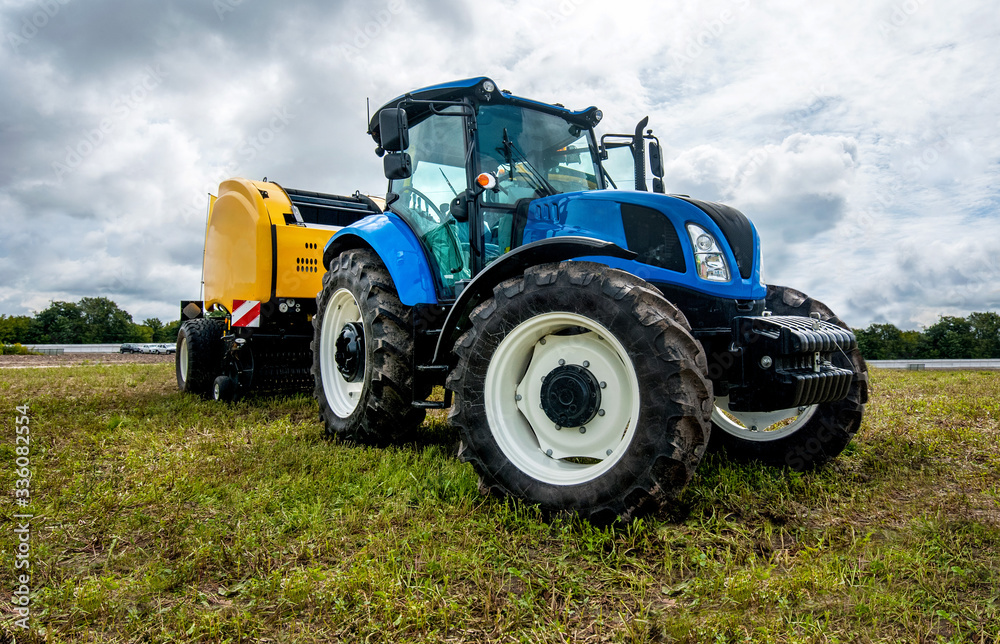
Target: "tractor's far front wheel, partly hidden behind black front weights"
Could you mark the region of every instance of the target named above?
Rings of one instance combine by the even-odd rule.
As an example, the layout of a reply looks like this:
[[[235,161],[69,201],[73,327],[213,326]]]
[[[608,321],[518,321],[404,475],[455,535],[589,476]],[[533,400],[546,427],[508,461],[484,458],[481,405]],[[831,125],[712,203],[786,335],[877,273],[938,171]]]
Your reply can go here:
[[[768,286],[766,307],[774,315],[820,319],[848,329],[828,306],[786,286]],[[847,398],[832,403],[770,412],[729,411],[727,398],[717,398],[712,412],[711,448],[733,460],[758,461],[804,471],[839,455],[861,427],[868,401],[868,367],[861,352],[833,355],[834,366],[851,369],[855,378]]]

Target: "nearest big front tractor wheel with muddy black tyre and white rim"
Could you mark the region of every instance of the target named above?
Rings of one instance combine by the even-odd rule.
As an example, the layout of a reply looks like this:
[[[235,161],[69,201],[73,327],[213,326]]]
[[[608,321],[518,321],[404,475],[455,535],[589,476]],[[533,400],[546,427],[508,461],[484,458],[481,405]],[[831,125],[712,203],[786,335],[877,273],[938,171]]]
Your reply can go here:
[[[472,313],[448,381],[480,488],[594,523],[669,505],[712,409],[704,352],[679,317],[646,282],[600,264],[500,283]]]

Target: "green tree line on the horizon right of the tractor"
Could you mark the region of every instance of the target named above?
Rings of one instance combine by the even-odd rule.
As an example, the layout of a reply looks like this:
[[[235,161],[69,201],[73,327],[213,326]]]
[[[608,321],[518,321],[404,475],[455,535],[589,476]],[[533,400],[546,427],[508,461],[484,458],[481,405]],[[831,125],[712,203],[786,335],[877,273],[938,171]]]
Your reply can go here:
[[[854,329],[868,360],[1000,358],[1000,314],[942,316],[923,331],[901,331],[891,324]]]

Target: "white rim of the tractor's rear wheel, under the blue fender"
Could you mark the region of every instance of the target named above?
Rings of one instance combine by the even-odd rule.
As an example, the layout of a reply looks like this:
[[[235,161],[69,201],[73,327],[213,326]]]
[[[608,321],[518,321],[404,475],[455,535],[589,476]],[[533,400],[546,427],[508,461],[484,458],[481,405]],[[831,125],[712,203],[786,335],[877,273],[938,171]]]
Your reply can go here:
[[[361,382],[347,382],[337,368],[337,338],[344,325],[349,322],[363,324],[361,307],[354,294],[346,288],[338,290],[330,298],[323,315],[320,331],[320,377],[323,378],[323,393],[330,409],[340,418],[347,418],[357,409],[365,379]],[[366,366],[367,371],[367,366]]]

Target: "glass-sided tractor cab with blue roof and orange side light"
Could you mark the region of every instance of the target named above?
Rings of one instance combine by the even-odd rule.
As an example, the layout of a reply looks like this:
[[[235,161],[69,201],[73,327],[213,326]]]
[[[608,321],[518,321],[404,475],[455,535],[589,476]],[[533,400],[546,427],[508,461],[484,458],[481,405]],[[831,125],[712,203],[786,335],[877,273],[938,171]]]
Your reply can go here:
[[[417,235],[442,299],[521,245],[531,201],[605,187],[600,120],[595,107],[520,99],[486,78],[407,94],[376,113],[388,209]]]

